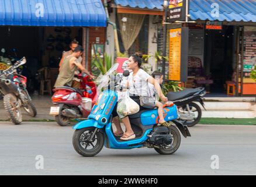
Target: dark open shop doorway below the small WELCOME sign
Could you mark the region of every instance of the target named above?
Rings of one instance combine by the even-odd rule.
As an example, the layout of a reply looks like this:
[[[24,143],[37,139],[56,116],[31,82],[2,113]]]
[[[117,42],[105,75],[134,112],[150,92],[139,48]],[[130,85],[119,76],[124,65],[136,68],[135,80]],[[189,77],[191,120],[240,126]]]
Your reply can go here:
[[[205,30],[205,72],[213,80],[208,85],[211,96],[225,96],[226,82],[232,81],[234,64],[234,28]]]

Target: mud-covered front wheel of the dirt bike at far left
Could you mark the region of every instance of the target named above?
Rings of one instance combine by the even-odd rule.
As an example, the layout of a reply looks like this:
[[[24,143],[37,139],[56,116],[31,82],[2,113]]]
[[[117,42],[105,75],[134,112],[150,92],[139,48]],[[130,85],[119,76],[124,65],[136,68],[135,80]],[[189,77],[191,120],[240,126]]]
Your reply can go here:
[[[5,110],[14,124],[22,123],[22,112],[20,110],[20,105],[21,102],[19,102],[18,98],[12,93],[4,96]]]

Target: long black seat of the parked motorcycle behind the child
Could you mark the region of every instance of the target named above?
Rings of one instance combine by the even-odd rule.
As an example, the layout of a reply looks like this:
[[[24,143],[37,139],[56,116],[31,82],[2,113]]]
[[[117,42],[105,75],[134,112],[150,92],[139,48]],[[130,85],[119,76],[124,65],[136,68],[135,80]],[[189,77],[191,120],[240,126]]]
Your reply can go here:
[[[168,101],[176,101],[178,99],[183,99],[188,96],[192,96],[196,92],[201,91],[202,88],[186,88],[184,91],[179,91],[179,92],[169,92],[167,94]]]

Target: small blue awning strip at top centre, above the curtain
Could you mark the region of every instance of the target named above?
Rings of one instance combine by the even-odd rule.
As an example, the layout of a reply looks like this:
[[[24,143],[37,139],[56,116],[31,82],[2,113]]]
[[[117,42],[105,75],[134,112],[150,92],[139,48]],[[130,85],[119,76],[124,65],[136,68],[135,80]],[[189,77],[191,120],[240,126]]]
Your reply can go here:
[[[147,9],[162,9],[163,2],[163,0],[115,0],[116,5]]]

